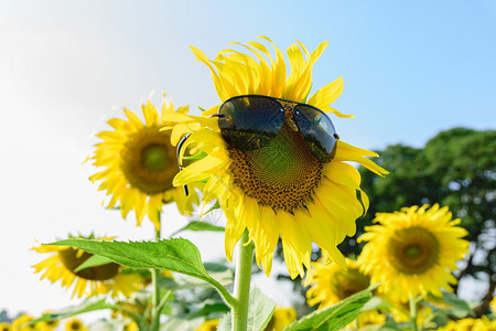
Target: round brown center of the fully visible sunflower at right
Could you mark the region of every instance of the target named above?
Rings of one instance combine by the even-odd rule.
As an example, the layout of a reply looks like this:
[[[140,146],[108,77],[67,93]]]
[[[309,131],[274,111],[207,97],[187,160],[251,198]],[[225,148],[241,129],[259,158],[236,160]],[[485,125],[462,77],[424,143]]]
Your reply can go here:
[[[423,274],[439,259],[439,241],[423,227],[398,229],[387,245],[391,265],[402,274]]]

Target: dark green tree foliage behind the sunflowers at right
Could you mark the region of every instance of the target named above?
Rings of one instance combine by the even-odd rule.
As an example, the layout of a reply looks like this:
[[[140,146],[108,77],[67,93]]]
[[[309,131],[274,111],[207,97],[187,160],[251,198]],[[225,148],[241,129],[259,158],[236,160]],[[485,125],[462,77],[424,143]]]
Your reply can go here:
[[[355,239],[378,212],[424,203],[448,205],[454,217],[462,218],[472,242],[466,267],[457,277],[487,279],[484,301],[490,300],[496,286],[496,131],[453,128],[438,134],[424,148],[392,145],[377,152],[377,162],[390,174],[379,178],[359,169],[370,207],[357,221],[357,235],[339,246],[342,252],[359,254],[362,246]]]

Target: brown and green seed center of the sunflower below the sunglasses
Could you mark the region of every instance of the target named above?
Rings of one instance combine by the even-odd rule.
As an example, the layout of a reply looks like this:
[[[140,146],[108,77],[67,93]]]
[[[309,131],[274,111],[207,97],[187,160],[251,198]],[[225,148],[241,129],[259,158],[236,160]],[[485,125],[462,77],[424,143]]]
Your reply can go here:
[[[300,131],[288,122],[292,117],[287,111],[279,135],[260,149],[240,151],[229,147],[234,182],[258,203],[287,212],[312,201],[323,169]]]

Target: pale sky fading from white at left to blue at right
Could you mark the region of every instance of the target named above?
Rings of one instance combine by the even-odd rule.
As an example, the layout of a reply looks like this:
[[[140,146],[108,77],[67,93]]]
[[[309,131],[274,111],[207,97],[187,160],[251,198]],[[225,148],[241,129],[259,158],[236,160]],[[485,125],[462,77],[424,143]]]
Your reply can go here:
[[[121,116],[125,103],[138,110],[151,90],[157,104],[161,92],[177,106],[218,104],[190,45],[214,57],[229,42],[261,34],[282,50],[295,39],[310,50],[328,40],[313,90],[343,76],[334,106],[356,118],[333,121],[344,141],[363,148],[421,147],[454,126],[495,129],[496,2],[305,3],[0,2],[0,169],[7,173],[0,252],[11,270],[0,274],[0,309],[39,313],[69,302],[32,275],[29,266],[40,259],[28,250],[34,239],[91,229],[152,236],[151,227],[137,229],[101,209],[103,195],[87,181],[94,169],[80,162],[104,121]],[[222,238],[192,238],[206,259],[222,252],[212,244]],[[25,289],[34,293],[30,302],[19,297]]]

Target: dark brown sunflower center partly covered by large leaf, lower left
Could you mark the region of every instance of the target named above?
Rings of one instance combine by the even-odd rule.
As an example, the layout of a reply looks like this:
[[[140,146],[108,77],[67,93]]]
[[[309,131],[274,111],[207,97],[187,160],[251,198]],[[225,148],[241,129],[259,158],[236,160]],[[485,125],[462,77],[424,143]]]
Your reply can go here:
[[[75,273],[74,270],[80,266],[85,260],[90,258],[93,254],[78,250],[75,248],[67,248],[58,252],[64,266],[77,277],[88,279],[88,280],[107,280],[115,277],[119,271],[119,265],[116,263],[109,263],[106,265],[89,267]]]

